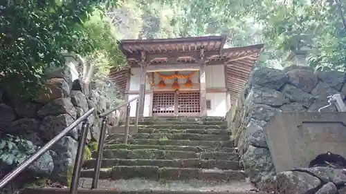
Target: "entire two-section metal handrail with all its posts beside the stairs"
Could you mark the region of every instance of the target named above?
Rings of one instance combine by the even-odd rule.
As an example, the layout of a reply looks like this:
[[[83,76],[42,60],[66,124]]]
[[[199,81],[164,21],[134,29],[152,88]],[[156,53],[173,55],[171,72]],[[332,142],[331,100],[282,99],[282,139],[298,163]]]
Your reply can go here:
[[[135,120],[135,126],[136,130],[138,131],[138,115],[139,115],[139,97],[135,97],[134,99],[131,99],[129,101],[126,101],[119,106],[116,106],[116,108],[113,108],[106,113],[100,115],[99,117],[102,118],[102,126],[100,131],[100,138],[98,141],[98,157],[96,158],[95,168],[94,168],[94,176],[93,176],[93,183],[91,188],[98,188],[98,180],[100,178],[100,168],[101,168],[101,162],[102,162],[102,151],[104,146],[104,141],[106,137],[106,130],[107,130],[107,116],[113,111],[116,111],[119,108],[122,108],[123,106],[127,105],[127,113],[126,113],[126,122],[125,122],[125,144],[127,144],[127,138],[129,135],[129,119],[130,119],[130,103],[132,101],[136,100],[136,120]],[[62,137],[64,137],[67,133],[69,133],[73,128],[78,126],[81,122],[82,124],[82,131],[80,134],[80,138],[78,139],[78,148],[77,148],[77,155],[75,157],[75,166],[73,168],[73,175],[71,179],[71,186],[70,186],[70,194],[76,194],[78,192],[78,183],[80,179],[80,171],[82,171],[82,162],[84,157],[84,146],[86,145],[86,137],[88,135],[89,131],[89,122],[87,118],[95,111],[95,108],[91,108],[86,112],[82,117],[79,117],[75,120],[70,126],[66,127],[62,132],[60,132],[57,136],[55,136],[51,141],[49,141],[46,145],[44,145],[42,148],[39,148],[39,151],[35,153],[34,155],[30,156],[28,159],[26,159],[24,162],[19,164],[15,170],[11,171],[3,177],[0,180],[0,189],[6,186],[11,180],[15,179],[19,173],[24,171],[30,164],[33,164],[39,157],[41,157],[46,151],[48,151],[55,143],[57,143]]]

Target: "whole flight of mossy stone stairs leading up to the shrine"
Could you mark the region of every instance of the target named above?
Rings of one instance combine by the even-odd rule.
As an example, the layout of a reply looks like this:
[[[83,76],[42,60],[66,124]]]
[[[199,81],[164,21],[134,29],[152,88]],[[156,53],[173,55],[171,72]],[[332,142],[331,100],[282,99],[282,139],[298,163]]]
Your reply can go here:
[[[91,188],[95,159],[84,163],[81,192],[254,193],[223,117],[145,118],[138,125],[129,144],[124,134],[108,135],[93,192],[84,188]]]

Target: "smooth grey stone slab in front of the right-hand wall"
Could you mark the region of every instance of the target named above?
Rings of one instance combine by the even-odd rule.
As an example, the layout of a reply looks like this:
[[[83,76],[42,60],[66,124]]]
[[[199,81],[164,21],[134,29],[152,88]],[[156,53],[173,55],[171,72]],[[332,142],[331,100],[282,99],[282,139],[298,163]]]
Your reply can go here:
[[[277,113],[264,127],[275,171],[305,168],[317,155],[346,157],[346,113]]]

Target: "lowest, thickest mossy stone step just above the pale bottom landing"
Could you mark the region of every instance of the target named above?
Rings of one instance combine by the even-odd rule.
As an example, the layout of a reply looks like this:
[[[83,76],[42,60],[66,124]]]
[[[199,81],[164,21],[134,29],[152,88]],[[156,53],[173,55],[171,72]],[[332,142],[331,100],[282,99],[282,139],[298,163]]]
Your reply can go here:
[[[82,170],[81,177],[93,177],[93,169]],[[244,171],[203,169],[203,168],[172,168],[158,166],[114,166],[101,168],[100,180],[129,180],[145,178],[148,180],[206,180],[206,181],[242,181],[246,179]]]

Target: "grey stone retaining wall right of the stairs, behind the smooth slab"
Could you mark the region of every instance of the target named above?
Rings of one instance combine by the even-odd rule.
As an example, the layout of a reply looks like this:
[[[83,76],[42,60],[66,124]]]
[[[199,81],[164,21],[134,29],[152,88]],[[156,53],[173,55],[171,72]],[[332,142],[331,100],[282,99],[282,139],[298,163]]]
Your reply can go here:
[[[241,163],[251,178],[260,182],[275,175],[263,126],[276,112],[317,112],[327,105],[327,96],[340,93],[345,99],[343,72],[314,72],[308,67],[291,66],[285,70],[260,68],[253,70],[237,104],[226,119],[239,148]],[[325,112],[336,112],[336,107]]]

